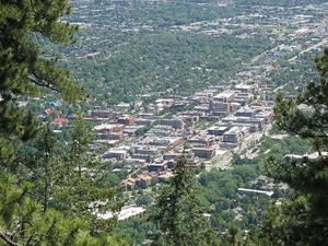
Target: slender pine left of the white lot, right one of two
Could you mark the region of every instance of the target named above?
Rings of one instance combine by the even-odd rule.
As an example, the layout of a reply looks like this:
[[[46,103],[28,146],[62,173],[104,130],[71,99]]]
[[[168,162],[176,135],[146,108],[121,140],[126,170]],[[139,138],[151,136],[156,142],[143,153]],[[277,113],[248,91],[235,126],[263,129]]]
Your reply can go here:
[[[122,202],[117,198],[119,189],[104,186],[106,168],[89,150],[91,129],[82,115],[73,126],[67,152],[57,167],[60,171],[55,181],[56,207],[67,215],[87,221],[95,234],[108,232],[115,218],[102,221],[96,213],[116,212],[121,208]]]

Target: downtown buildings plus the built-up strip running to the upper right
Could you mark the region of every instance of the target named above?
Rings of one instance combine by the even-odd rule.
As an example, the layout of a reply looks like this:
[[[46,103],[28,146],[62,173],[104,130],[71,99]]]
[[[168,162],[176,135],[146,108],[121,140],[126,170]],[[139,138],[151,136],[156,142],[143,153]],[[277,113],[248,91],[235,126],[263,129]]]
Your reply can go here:
[[[277,19],[277,11],[286,15]],[[303,11],[308,14],[302,15]],[[201,25],[200,33],[209,31],[203,33],[206,35],[239,30],[243,31],[239,38],[266,36],[274,42],[272,48],[255,56],[245,65],[244,71],[237,72],[226,83],[187,97],[157,96],[148,105],[133,102],[120,103],[108,109],[93,108],[85,117],[94,126],[91,150],[99,154],[103,162],[120,164],[128,169],[131,175],[122,184],[129,188],[148,187],[165,180],[164,177],[172,175],[171,169],[181,156],[187,156],[188,166],[194,169],[224,167],[232,153],[241,153],[256,144],[270,127],[273,92],[278,90],[270,74],[279,67],[276,66],[279,59],[294,52],[306,54],[319,47],[318,44],[326,44],[326,39],[321,40],[327,31],[326,22],[319,17],[314,20],[313,15],[318,11],[292,8],[281,12],[277,7],[256,7],[251,15],[192,24],[189,26],[191,30],[184,32]],[[323,10],[320,16],[324,13]],[[258,24],[268,27],[261,28],[265,33],[258,33]],[[218,34],[211,30],[216,25],[222,28]],[[298,58],[292,57],[289,61],[293,65]],[[51,117],[52,126],[60,129],[69,126],[74,115],[63,116],[58,108],[60,105],[54,102],[45,107],[40,117]]]

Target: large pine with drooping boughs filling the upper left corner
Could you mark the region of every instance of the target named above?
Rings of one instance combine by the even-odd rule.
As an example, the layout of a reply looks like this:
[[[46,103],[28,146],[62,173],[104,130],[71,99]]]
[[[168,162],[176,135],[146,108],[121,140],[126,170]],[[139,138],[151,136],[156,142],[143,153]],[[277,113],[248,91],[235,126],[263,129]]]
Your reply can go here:
[[[44,40],[56,44],[73,42],[77,26],[60,21],[70,13],[68,0],[0,1],[0,164],[13,159],[12,138],[28,140],[39,124],[17,98],[35,96],[49,89],[65,99],[77,101],[81,87],[56,59],[43,56]]]

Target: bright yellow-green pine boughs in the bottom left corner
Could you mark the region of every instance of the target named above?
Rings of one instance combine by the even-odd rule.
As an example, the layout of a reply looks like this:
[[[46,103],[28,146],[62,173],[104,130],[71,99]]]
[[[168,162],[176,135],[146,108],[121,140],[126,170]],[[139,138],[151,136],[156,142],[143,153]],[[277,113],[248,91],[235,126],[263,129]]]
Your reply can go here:
[[[43,189],[44,186],[40,188]],[[31,183],[17,183],[15,176],[7,173],[0,174],[1,246],[128,245],[125,236],[102,233],[104,230],[98,231],[97,236],[93,236],[90,221],[85,218],[80,218],[79,214],[68,216],[63,211],[54,210],[50,206],[45,210],[45,204],[32,199],[31,197],[35,196],[31,194],[34,194]],[[51,194],[51,199],[55,196]],[[43,198],[40,201],[44,202]],[[63,202],[70,202],[70,200],[65,199]]]

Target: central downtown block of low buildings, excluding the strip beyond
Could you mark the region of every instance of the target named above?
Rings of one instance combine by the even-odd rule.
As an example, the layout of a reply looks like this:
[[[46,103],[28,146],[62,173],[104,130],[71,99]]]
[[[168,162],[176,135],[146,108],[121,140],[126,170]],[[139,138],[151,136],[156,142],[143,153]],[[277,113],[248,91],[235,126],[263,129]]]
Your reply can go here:
[[[127,188],[166,180],[183,156],[200,171],[259,141],[272,120],[273,103],[267,99],[272,91],[268,84],[230,83],[160,98],[139,110],[132,104],[93,109],[86,116],[94,125],[92,150],[133,174],[122,181]]]

